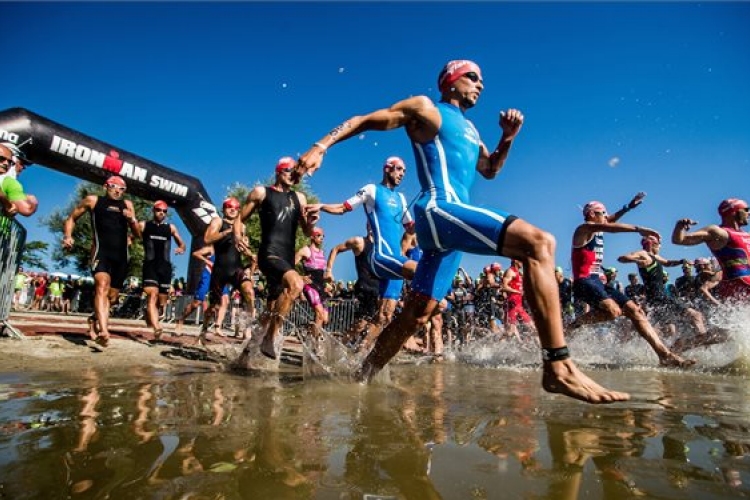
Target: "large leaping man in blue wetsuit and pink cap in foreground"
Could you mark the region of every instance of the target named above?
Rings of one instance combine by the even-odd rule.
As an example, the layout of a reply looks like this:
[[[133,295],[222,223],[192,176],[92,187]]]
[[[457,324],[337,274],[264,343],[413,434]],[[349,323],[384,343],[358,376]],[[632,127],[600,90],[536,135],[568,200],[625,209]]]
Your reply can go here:
[[[402,344],[437,311],[450,289],[463,252],[519,259],[524,288],[542,345],[542,386],[590,403],[612,403],[629,395],[610,391],[584,375],[570,359],[554,274],[555,240],[549,233],[506,212],[470,204],[469,191],[479,172],[494,178],[503,167],[523,125],[517,109],[500,113],[502,137],[493,151],[479,138],[464,112],[474,107],[484,82],[475,63],[450,61],[438,77],[440,102],[414,96],[337,126],[297,163],[297,174],[312,174],[326,150],[368,130],[405,128],[412,142],[421,185],[414,209],[417,236],[424,250],[412,293],[404,309],[385,329],[357,373],[369,380]]]

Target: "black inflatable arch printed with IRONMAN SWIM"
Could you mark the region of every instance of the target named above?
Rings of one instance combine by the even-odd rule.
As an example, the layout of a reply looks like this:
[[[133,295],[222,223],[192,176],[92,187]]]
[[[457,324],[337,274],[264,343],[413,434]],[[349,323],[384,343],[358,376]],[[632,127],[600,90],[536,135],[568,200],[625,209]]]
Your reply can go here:
[[[0,142],[18,146],[30,161],[90,182],[103,184],[111,175],[128,183],[128,192],[174,207],[192,236],[191,247],[203,245],[203,234],[216,207],[203,184],[141,156],[99,141],[23,108],[0,111]],[[188,288],[201,272],[190,258]]]

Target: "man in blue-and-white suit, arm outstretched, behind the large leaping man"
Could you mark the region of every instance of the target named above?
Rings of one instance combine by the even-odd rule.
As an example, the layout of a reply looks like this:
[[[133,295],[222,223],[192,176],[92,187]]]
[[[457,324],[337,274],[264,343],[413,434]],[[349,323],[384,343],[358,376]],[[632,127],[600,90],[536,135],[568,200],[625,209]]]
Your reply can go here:
[[[316,206],[321,212],[334,215],[364,206],[368,227],[372,229],[374,238],[369,257],[370,271],[380,280],[378,324],[381,327],[393,319],[404,278],[412,279],[417,268],[417,262],[401,252],[404,230],[407,234],[414,232],[406,198],[396,191],[405,175],[404,160],[391,156],[383,164],[380,184],[367,184],[344,203]]]

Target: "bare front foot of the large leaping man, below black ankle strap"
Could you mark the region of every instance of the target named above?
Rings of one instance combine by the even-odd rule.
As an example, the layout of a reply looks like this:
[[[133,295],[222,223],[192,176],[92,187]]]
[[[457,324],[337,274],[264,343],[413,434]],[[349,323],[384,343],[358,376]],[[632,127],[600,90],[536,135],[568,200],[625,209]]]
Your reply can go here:
[[[545,361],[542,387],[547,392],[563,394],[592,404],[627,401],[630,394],[610,391],[581,372],[572,359]]]

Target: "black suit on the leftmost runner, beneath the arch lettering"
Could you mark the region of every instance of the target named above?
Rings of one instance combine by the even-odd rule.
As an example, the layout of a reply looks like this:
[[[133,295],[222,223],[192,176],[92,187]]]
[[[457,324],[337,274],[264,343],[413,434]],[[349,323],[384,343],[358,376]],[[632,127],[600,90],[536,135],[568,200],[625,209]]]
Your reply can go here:
[[[128,272],[128,218],[123,214],[126,208],[125,200],[99,196],[91,211],[94,230],[91,274],[109,274],[110,286],[118,290]]]

